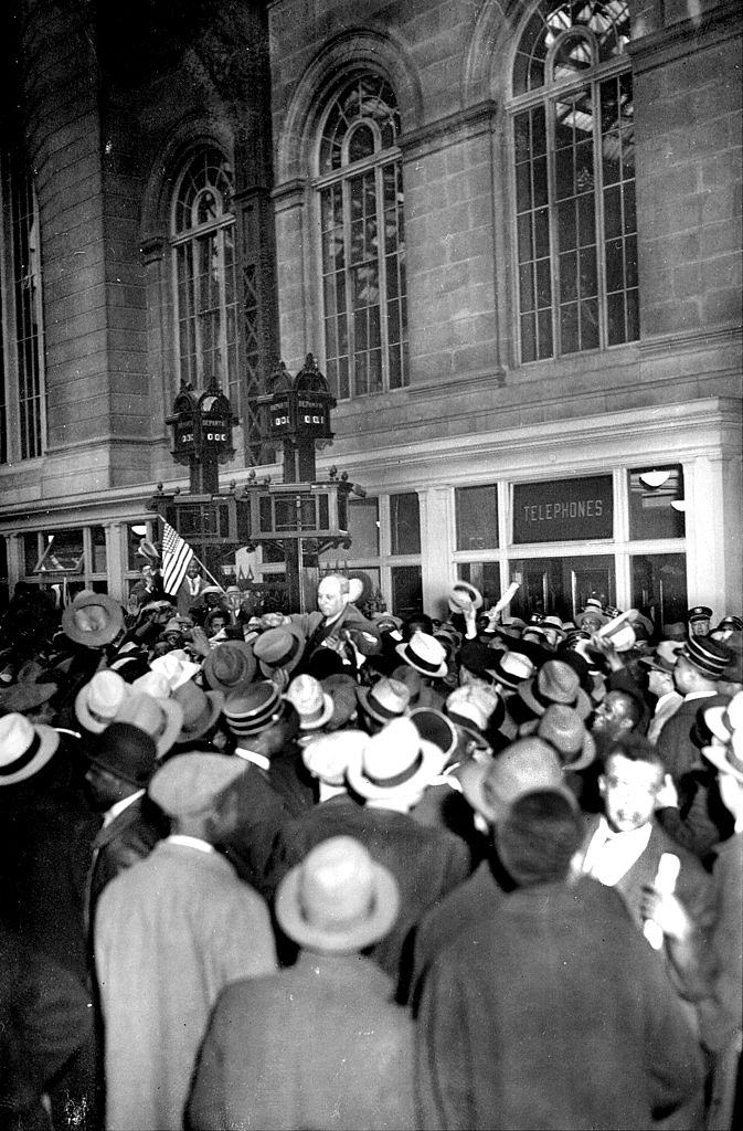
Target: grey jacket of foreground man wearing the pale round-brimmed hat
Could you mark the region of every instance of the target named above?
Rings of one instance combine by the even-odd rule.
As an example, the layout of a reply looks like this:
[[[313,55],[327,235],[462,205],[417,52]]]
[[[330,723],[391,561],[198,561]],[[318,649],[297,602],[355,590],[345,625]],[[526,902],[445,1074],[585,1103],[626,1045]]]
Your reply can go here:
[[[189,1105],[206,1129],[414,1128],[413,1022],[360,955],[302,952],[294,967],[227,986]]]

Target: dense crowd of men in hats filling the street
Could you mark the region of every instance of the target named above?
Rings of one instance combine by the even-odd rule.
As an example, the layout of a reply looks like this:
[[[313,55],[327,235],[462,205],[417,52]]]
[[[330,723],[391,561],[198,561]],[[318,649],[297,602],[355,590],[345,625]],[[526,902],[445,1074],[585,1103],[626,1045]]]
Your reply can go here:
[[[740,1126],[743,621],[243,596],[2,618],[0,1125]]]

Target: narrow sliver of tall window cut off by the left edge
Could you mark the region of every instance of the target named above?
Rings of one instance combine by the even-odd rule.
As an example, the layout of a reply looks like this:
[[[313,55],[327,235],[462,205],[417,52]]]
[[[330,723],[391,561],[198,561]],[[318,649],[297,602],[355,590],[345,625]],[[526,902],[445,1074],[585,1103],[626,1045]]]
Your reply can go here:
[[[38,207],[18,149],[0,153],[0,464],[35,459],[45,443]]]

